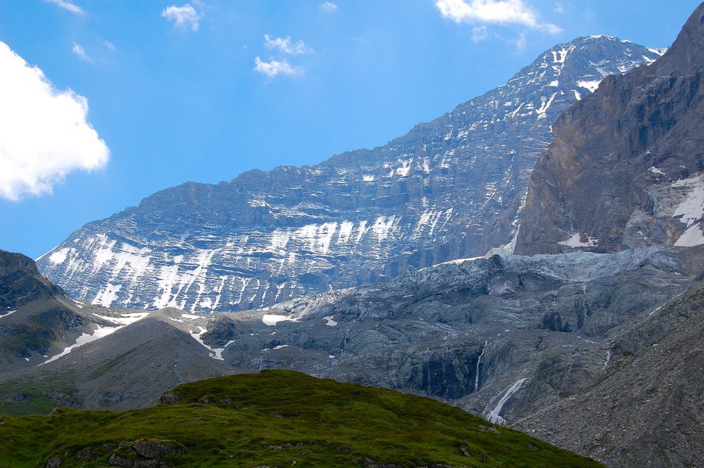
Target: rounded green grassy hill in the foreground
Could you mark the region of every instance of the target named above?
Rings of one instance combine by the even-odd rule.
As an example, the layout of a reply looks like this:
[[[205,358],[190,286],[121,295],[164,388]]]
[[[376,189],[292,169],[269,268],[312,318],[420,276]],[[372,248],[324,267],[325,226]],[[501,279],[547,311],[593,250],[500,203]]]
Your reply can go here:
[[[105,467],[113,453],[136,460],[121,442],[150,438],[186,448],[162,459],[175,467],[601,467],[436,400],[298,372],[216,377],[170,393],[179,403],[4,417],[0,466],[44,467],[58,456],[61,468]],[[77,460],[88,447],[94,459]]]

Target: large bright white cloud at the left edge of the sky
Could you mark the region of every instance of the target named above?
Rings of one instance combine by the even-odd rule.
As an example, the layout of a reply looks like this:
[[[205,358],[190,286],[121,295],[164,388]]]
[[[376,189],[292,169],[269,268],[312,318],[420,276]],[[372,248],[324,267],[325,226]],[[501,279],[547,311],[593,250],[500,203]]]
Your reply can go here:
[[[1,198],[51,194],[69,172],[108,163],[110,149],[86,120],[87,99],[55,89],[4,42],[0,70]]]

